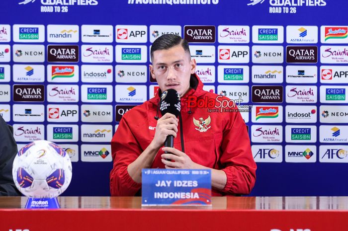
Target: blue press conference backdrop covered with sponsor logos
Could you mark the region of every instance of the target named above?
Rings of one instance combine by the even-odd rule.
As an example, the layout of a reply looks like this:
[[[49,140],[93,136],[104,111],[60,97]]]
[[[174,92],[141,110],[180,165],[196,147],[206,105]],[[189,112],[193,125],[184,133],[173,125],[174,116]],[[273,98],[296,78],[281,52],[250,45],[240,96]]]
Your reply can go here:
[[[0,114],[19,148],[47,139],[67,150],[73,179],[64,195],[109,195],[110,140],[122,115],[158,89],[149,51],[164,33],[190,42],[206,90],[251,109],[242,113],[258,163],[251,195],[347,195],[346,1],[11,0],[0,8]]]

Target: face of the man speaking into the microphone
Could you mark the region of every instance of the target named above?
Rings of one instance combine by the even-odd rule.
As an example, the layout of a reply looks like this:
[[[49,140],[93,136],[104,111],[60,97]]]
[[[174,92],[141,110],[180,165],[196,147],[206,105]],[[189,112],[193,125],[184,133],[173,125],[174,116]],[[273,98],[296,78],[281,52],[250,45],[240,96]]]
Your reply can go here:
[[[162,91],[173,88],[183,96],[190,87],[190,76],[196,70],[196,61],[181,45],[153,53],[150,72]]]

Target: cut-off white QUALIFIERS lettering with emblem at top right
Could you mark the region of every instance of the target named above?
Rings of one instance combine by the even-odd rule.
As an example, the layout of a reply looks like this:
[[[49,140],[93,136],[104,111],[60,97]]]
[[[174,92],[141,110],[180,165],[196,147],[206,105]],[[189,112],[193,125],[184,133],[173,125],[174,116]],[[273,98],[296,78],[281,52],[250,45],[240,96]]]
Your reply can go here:
[[[249,0],[247,5],[263,3],[264,0]],[[325,6],[326,0],[269,0],[271,6]]]

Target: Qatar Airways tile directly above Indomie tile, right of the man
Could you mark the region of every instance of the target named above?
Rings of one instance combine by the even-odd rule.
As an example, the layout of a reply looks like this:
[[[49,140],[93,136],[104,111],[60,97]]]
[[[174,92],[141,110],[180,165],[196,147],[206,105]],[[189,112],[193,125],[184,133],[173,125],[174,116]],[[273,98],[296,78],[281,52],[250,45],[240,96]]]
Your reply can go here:
[[[252,101],[262,102],[283,102],[283,86],[252,86]]]

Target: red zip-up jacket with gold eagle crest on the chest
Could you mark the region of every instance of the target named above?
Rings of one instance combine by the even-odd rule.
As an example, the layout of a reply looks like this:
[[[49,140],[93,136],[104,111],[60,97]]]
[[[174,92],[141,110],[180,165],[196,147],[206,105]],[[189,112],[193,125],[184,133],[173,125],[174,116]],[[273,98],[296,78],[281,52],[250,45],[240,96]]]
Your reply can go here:
[[[223,170],[227,176],[223,190],[212,189],[212,196],[249,194],[256,179],[254,161],[247,127],[239,112],[208,112],[207,108],[188,108],[188,96],[199,99],[216,99],[217,94],[203,90],[203,83],[196,75],[190,79],[191,89],[181,98],[181,123],[174,139],[174,148],[182,151],[195,163]],[[159,92],[160,93],[160,92]],[[150,100],[125,113],[111,140],[113,168],[110,172],[112,196],[134,196],[141,188],[127,171],[132,163],[151,143],[155,136],[159,93]],[[224,97],[224,99],[229,100]],[[190,112],[189,112],[190,111]],[[202,128],[194,119],[211,121]],[[179,119],[180,120],[180,119]],[[182,125],[181,125],[182,124]],[[197,124],[197,123],[196,123]],[[181,134],[183,134],[181,136]],[[182,139],[182,141],[181,141]],[[151,168],[165,168],[160,149]]]

